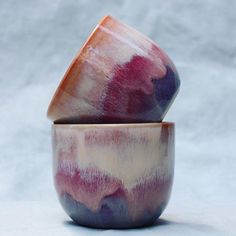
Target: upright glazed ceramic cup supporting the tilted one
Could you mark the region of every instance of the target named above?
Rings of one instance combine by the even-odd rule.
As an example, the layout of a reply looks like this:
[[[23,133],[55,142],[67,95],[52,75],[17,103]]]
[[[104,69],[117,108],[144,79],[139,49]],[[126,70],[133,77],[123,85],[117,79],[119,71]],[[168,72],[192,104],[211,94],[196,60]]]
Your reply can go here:
[[[174,124],[53,125],[54,182],[80,225],[130,228],[154,223],[169,200]]]

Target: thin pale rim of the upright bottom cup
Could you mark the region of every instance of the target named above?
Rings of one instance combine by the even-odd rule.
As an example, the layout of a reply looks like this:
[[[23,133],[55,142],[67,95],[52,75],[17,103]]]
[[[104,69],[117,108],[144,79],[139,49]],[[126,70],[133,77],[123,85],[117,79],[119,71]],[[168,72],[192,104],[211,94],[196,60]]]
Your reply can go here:
[[[174,127],[175,122],[150,122],[150,123],[110,123],[110,124],[52,124],[53,128],[155,128]]]

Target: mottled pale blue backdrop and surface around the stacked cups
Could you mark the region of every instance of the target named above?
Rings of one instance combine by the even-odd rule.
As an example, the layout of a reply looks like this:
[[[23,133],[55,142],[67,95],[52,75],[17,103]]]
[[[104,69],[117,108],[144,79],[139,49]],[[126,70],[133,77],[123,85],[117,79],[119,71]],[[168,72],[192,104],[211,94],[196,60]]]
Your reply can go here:
[[[89,33],[110,14],[158,42],[182,82],[165,118],[176,122],[169,223],[145,232],[236,235],[235,12],[234,0],[0,0],[0,218],[20,218],[30,204],[38,216],[37,204],[57,202],[47,106]],[[63,214],[58,207],[55,215]],[[10,222],[3,235],[15,234]],[[84,232],[60,223],[64,235]],[[26,235],[27,224],[16,225]]]

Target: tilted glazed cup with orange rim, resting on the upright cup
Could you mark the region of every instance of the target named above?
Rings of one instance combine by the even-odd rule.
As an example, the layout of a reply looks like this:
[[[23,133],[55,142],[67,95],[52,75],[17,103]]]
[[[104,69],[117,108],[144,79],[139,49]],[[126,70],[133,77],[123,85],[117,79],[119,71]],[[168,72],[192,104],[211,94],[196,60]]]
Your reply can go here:
[[[107,16],[70,65],[47,115],[59,123],[157,122],[179,85],[159,46]]]

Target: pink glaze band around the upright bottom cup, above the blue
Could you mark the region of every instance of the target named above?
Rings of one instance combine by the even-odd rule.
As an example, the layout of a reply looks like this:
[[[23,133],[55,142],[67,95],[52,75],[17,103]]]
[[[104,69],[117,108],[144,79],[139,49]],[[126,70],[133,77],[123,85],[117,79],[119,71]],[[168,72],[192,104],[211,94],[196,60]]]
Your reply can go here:
[[[59,195],[69,193],[74,200],[93,212],[100,210],[101,202],[107,196],[124,198],[133,220],[139,218],[144,209],[151,214],[160,204],[168,201],[173,178],[161,179],[157,174],[152,179],[144,179],[132,189],[126,189],[119,179],[93,168],[76,168],[72,172],[71,176],[67,171],[57,171],[55,185]]]

